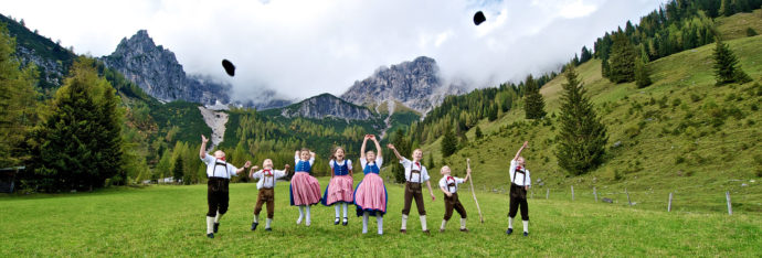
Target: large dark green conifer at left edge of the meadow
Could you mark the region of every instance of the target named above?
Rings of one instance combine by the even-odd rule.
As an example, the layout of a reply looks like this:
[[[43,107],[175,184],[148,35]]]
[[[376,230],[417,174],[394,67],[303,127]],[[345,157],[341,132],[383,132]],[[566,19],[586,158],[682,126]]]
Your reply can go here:
[[[34,130],[34,173],[49,191],[104,186],[124,181],[121,111],[110,84],[82,57],[55,93],[50,115]]]

